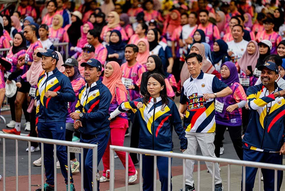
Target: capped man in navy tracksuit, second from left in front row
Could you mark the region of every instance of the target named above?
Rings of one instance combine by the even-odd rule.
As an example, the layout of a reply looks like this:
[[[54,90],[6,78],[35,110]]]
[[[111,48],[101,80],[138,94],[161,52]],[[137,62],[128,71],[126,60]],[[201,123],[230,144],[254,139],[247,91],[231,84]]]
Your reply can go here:
[[[109,89],[99,79],[101,63],[91,58],[81,63],[84,67],[86,85],[79,90],[75,112],[71,113],[74,128],[81,133],[80,142],[98,145],[97,164],[103,157],[110,136],[110,121],[108,114],[112,95]],[[92,190],[92,149],[84,149],[84,190]],[[81,157],[79,157],[81,159]],[[84,163],[82,163],[84,162]],[[97,181],[99,190],[99,180]]]

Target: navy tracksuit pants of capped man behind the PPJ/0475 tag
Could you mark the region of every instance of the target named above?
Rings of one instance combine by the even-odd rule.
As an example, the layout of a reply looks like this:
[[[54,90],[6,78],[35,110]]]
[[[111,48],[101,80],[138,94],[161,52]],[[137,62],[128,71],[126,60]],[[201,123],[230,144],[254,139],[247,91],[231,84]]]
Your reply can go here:
[[[90,135],[89,135],[90,136]],[[95,136],[95,135],[94,135]],[[100,163],[100,160],[103,157],[103,154],[106,150],[108,141],[110,137],[110,131],[99,133],[96,137],[86,138],[84,135],[80,137],[80,143],[89,143],[89,144],[97,144],[97,167]],[[84,166],[84,190],[92,191],[92,158],[93,158],[93,150],[92,149],[83,149],[83,160],[81,161],[81,154],[79,154],[80,164]],[[80,168],[81,170],[81,168]],[[97,172],[99,172],[97,170]],[[99,180],[97,181],[97,189],[99,191]]]

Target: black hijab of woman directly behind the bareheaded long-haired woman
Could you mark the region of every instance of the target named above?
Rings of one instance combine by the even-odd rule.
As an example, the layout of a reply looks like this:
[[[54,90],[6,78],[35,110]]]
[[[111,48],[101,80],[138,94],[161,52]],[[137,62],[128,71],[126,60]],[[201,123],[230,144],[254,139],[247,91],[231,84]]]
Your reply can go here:
[[[147,80],[149,75],[154,74],[154,73],[158,73],[158,74],[162,75],[162,77],[164,79],[166,78],[164,70],[163,70],[161,59],[158,56],[156,56],[156,55],[148,56],[148,58],[149,57],[152,57],[154,59],[155,68],[152,71],[144,72],[143,75],[142,75],[141,87],[140,87],[140,91],[141,91],[142,95],[146,94],[146,91],[147,91],[147,88],[146,88],[147,87],[147,82],[146,82],[146,80]]]

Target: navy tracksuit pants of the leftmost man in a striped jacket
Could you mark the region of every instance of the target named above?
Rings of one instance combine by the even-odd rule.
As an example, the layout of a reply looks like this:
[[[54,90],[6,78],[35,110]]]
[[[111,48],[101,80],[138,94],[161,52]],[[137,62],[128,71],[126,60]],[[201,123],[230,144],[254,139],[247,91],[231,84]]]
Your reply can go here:
[[[47,139],[56,139],[65,141],[65,121],[55,122],[38,122],[38,137]],[[41,146],[41,144],[39,144]],[[46,183],[54,185],[54,146],[44,143],[44,170],[46,174]],[[67,177],[67,153],[65,146],[56,145],[56,156],[60,164],[60,170],[64,181],[68,184]],[[70,182],[73,183],[72,174],[70,173]]]

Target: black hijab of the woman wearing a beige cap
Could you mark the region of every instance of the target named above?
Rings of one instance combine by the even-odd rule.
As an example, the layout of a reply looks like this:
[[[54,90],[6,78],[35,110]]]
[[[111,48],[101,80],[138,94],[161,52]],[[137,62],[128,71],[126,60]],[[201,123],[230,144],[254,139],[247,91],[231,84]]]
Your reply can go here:
[[[67,29],[69,41],[72,46],[76,46],[78,39],[81,37],[80,27],[82,25],[82,21],[79,19],[79,17],[76,16],[76,21],[71,23],[70,27]]]

